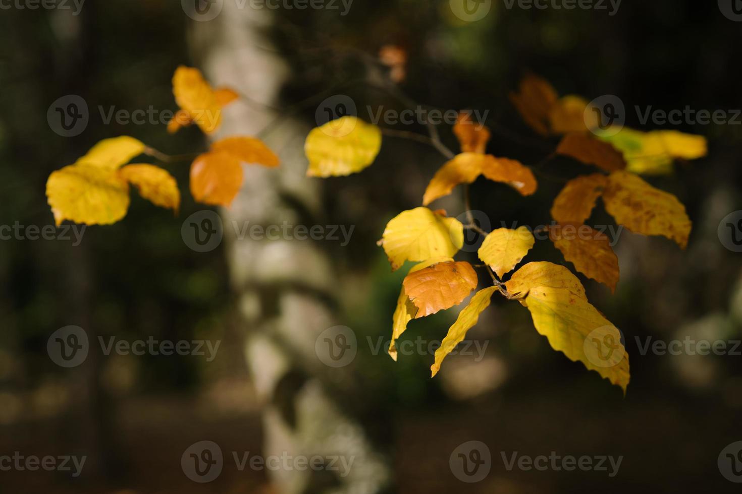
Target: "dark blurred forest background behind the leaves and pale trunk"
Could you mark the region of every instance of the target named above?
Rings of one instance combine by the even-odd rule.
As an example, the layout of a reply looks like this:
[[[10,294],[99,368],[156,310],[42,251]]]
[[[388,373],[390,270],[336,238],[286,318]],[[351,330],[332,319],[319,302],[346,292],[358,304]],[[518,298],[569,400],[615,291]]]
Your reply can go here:
[[[269,106],[251,101],[251,81],[260,79],[263,66],[240,79],[248,99],[225,109],[227,126],[231,111],[249,120],[252,112],[265,113],[268,107],[309,129],[316,125],[318,104],[338,94],[355,101],[359,116],[368,120],[367,105],[404,109],[401,91],[416,104],[489,110],[493,136],[487,151],[526,164],[538,163],[557,144],[529,130],[508,101],[508,92],[529,72],[544,76],[562,95],[580,94],[588,101],[617,95],[629,109],[687,105],[732,112],[742,107],[742,23],[724,16],[717,2],[625,0],[611,16],[610,4],[608,10],[523,9],[517,3],[508,9],[505,1],[493,0],[489,13],[472,22],[454,15],[447,0],[355,0],[345,16],[329,9],[263,9],[257,13],[260,23],[251,21],[255,9],[249,5],[229,16],[242,16],[243,30],[259,31],[272,46],[240,46],[221,33],[203,36],[209,22],[191,19],[178,1],[88,0],[76,16],[71,3],[71,11],[3,7],[0,224],[53,224],[45,198],[47,176],[102,138],[134,136],[173,155],[206,149],[195,127],[169,136],[162,124],[105,124],[98,111],[99,106],[176,110],[171,76],[180,64],[202,67],[215,86],[229,82],[205,62],[205,51],[227,65],[263,50],[282,60],[283,76]],[[232,50],[235,42],[240,49]],[[378,61],[387,45],[407,56],[398,84],[389,84]],[[72,137],[60,136],[47,121],[50,105],[66,95],[82,96],[90,108],[87,127]],[[657,128],[642,126],[634,111],[628,111],[626,124]],[[421,124],[395,128],[427,134]],[[304,178],[301,156],[284,159],[282,180],[296,190],[318,190],[315,207],[296,206],[302,224],[355,228],[347,246],[306,242],[315,242],[331,273],[330,288],[318,304],[328,307],[332,324],[352,328],[358,356],[342,369],[317,374],[302,369],[296,386],[312,375],[338,407],[364,424],[390,472],[384,489],[738,490],[717,462],[723,448],[742,440],[741,357],[641,355],[637,337],[642,342],[648,336],[742,339],[742,254],[726,249],[717,235],[721,219],[742,209],[742,127],[685,123],[663,128],[709,139],[705,158],[676,164],[671,176],[648,178],[686,204],[694,223],[688,249],[624,231],[615,247],[621,279],[614,295],[579,275],[590,301],[626,338],[631,384],[625,398],[597,373],[551,350],[533,329],[528,311],[499,298],[469,333],[480,345],[487,343],[482,358],[450,356],[430,379],[430,353],[401,355],[398,362],[384,352],[375,355],[367,338],[388,340],[406,271],[391,273],[375,241],[390,218],[420,204],[444,158],[424,144],[385,136],[375,164],[347,178]],[[287,132],[280,125],[270,129],[278,137]],[[439,126],[439,133],[455,150],[450,127]],[[244,288],[235,282],[239,250],[229,241],[208,253],[188,247],[181,236],[183,221],[206,208],[188,193],[188,164],[165,166],[183,194],[177,217],[133,193],[126,218],[88,227],[79,244],[0,241],[0,454],[88,456],[75,478],[59,471],[0,471],[3,492],[292,492],[266,470],[238,471],[232,464],[214,481],[200,484],[181,467],[184,450],[202,440],[220,444],[226,463],[228,452],[261,454],[274,419],[266,418],[265,402],[256,392],[260,376],[250,370],[255,358],[245,351],[255,325],[244,316]],[[585,170],[566,158],[550,161],[542,167],[544,176],[536,176],[539,190],[530,198],[477,181],[473,208],[493,227],[501,221],[548,223],[563,181]],[[459,193],[439,204],[450,216],[464,211]],[[249,218],[249,211],[245,214]],[[591,223],[612,220],[598,207]],[[537,242],[526,260],[564,264],[548,241]],[[440,340],[455,316],[451,310],[413,321],[403,339]],[[213,361],[105,356],[93,344],[83,364],[65,369],[50,359],[47,340],[68,325],[84,328],[91,341],[115,336],[221,343]],[[313,353],[314,338],[307,341],[303,351]],[[269,401],[276,404],[279,395],[274,391]],[[482,441],[491,452],[491,471],[482,481],[462,482],[450,467],[450,455],[465,441]],[[623,463],[612,478],[594,471],[508,471],[500,452],[516,451],[623,455]],[[304,492],[350,492],[332,487],[332,481],[312,485]],[[369,489],[356,492],[376,492]]]

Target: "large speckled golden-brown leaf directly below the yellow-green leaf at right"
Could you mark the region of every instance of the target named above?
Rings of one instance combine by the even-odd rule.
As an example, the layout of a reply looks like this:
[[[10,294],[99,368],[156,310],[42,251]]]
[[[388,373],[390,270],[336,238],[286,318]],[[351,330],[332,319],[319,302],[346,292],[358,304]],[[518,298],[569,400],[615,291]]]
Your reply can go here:
[[[616,171],[603,192],[605,210],[634,233],[662,235],[685,249],[691,232],[686,207],[677,197],[656,189],[639,176]]]

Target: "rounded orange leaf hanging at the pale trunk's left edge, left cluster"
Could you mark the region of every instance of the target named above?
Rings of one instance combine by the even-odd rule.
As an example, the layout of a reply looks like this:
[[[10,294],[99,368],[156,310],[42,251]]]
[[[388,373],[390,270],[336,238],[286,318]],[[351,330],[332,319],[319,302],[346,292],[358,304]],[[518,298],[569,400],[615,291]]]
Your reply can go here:
[[[191,194],[203,204],[229,206],[242,180],[240,160],[223,151],[204,153],[191,164]]]

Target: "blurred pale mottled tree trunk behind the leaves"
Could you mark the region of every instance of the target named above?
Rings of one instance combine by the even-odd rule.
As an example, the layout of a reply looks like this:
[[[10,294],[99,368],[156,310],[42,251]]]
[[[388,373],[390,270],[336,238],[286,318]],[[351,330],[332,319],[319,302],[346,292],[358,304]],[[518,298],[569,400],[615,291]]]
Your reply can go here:
[[[266,36],[271,13],[223,3],[213,21],[194,22],[191,48],[208,79],[250,99],[225,111],[217,138],[255,136],[275,121],[269,108],[276,105],[289,70]],[[263,452],[338,455],[352,467],[345,476],[328,470],[268,474],[280,493],[384,492],[391,476],[387,457],[361,421],[343,410],[343,401],[351,398],[337,390],[338,384],[349,389],[349,372],[326,367],[315,354],[316,338],[337,324],[332,293],[338,283],[328,256],[314,241],[249,235],[253,225],[310,227],[321,210],[318,181],[304,177],[303,139],[309,128],[289,118],[272,128],[265,140],[280,156],[280,168],[246,167],[242,190],[223,211],[232,285],[246,328],[246,359],[263,402]],[[239,238],[240,231],[248,234]]]

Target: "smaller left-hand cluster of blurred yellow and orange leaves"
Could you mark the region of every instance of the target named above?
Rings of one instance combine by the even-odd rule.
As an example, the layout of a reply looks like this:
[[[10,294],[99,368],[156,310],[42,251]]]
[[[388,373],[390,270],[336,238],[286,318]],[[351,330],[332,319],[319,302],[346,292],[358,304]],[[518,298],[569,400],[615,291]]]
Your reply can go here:
[[[175,70],[173,93],[180,110],[168,124],[169,133],[193,123],[204,133],[214,133],[222,108],[238,97],[226,87],[212,90],[200,71],[189,67]],[[84,224],[119,221],[128,211],[130,184],[143,198],[177,213],[180,190],[175,178],[154,164],[128,164],[142,154],[165,163],[179,161],[133,137],[120,136],[100,141],[73,164],[51,173],[46,193],[56,224],[65,219]],[[278,157],[254,137],[215,141],[191,164],[191,195],[203,204],[229,206],[242,185],[241,163],[277,167]]]

